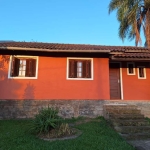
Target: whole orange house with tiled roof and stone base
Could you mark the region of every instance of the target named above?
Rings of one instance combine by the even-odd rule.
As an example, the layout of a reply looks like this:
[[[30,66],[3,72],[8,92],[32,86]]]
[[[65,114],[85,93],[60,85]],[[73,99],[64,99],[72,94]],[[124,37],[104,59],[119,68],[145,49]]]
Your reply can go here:
[[[65,117],[97,116],[105,103],[150,113],[148,48],[2,42],[0,53],[0,118],[33,117],[48,105]]]

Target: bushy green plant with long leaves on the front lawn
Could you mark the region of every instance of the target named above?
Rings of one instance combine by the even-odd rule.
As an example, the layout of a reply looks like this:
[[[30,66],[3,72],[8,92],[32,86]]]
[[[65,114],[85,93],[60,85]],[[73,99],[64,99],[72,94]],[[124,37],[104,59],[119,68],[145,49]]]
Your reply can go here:
[[[32,120],[31,129],[38,134],[47,134],[58,127],[63,119],[58,116],[58,110],[54,108],[43,108]]]

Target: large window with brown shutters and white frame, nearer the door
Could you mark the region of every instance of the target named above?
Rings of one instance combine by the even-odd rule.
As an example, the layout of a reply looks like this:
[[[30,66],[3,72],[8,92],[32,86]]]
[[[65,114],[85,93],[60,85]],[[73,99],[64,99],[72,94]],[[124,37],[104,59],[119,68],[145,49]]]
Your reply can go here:
[[[92,79],[92,59],[73,59],[67,60],[67,78],[77,80],[91,80]]]

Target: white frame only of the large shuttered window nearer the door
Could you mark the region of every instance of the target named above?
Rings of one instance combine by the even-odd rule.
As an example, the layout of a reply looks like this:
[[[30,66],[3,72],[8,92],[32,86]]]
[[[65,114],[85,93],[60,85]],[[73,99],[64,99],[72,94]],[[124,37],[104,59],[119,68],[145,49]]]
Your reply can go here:
[[[69,78],[69,60],[91,60],[91,78]],[[67,58],[67,68],[66,68],[66,79],[67,80],[93,80],[94,72],[93,72],[93,58],[79,58],[79,57],[68,57]]]

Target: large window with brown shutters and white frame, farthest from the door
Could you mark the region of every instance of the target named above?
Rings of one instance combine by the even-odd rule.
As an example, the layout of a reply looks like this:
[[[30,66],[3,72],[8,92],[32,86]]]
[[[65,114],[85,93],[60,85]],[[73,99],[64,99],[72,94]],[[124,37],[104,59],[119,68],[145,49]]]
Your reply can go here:
[[[9,78],[37,78],[37,61],[35,56],[11,56]]]

